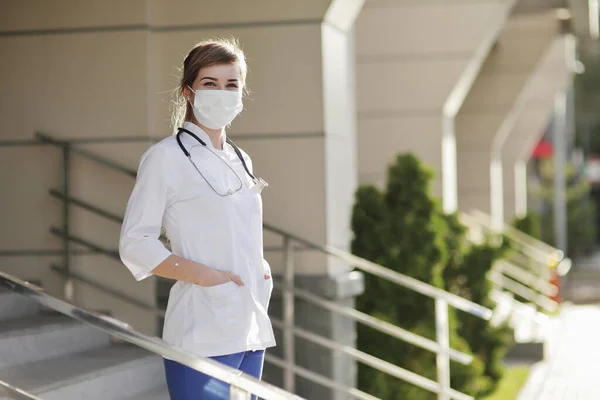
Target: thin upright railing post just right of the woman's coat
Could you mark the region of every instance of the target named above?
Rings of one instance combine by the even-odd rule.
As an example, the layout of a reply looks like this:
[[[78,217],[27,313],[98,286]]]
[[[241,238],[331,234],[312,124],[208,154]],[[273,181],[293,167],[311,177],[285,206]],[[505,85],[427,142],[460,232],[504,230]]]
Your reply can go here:
[[[288,392],[295,392],[294,366],[295,366],[295,344],[294,344],[294,248],[289,236],[283,238],[285,269],[283,280],[285,290],[283,291],[283,353],[285,359],[285,371],[283,384]]]

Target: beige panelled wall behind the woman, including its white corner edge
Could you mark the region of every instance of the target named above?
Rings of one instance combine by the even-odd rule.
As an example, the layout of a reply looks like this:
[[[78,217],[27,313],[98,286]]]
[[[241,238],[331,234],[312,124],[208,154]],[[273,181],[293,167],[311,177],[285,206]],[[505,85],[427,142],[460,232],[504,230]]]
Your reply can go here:
[[[58,138],[147,136],[147,142],[82,147],[130,168],[151,143],[170,134],[169,91],[177,67],[196,42],[233,35],[248,56],[251,97],[232,127],[270,187],[263,193],[265,221],[292,233],[347,247],[356,187],[354,52],[351,27],[362,1],[289,3],[178,1],[5,1],[0,13],[1,140],[28,140],[42,130]],[[48,16],[53,16],[48,18]],[[60,188],[61,153],[47,146],[0,147],[3,187],[2,249],[60,250],[48,233],[60,226],[61,205],[47,195]],[[18,171],[18,173],[15,173]],[[72,194],[122,215],[133,180],[78,156]],[[74,233],[116,249],[118,224],[73,209]],[[266,245],[280,238],[266,236]],[[278,253],[268,253],[275,272]],[[43,278],[54,294],[61,280],[48,270],[60,257],[0,259],[23,278]],[[100,255],[78,255],[73,270],[146,302],[152,278],[135,283],[125,267]],[[303,274],[336,274],[338,265],[302,252]],[[76,300],[151,331],[139,309],[76,286]]]

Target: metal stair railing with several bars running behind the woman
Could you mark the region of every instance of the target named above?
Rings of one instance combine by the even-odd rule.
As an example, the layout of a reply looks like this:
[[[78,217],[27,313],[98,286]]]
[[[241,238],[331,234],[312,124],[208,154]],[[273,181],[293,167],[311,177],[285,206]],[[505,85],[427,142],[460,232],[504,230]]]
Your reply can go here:
[[[79,155],[88,158],[102,166],[111,168],[115,171],[126,173],[129,176],[135,177],[136,172],[119,165],[113,161],[104,159],[95,154],[89,153],[84,150],[76,149],[73,146],[73,143],[70,141],[61,141],[54,139],[48,135],[44,134],[36,134],[38,140],[46,143],[58,146],[60,148],[68,147],[70,151],[77,152]],[[65,161],[66,163],[66,161]],[[65,164],[68,165],[68,164]],[[68,176],[68,174],[65,174]],[[63,185],[64,187],[68,187],[68,185]],[[113,215],[105,210],[102,210],[100,207],[90,204],[88,202],[82,201],[80,199],[75,198],[70,195],[68,192],[64,192],[61,190],[52,189],[50,190],[50,194],[61,200],[65,205],[65,213],[68,213],[68,209],[70,206],[74,205],[77,207],[84,208],[90,212],[93,212],[101,217],[112,220],[116,223],[122,222],[122,217]],[[68,228],[68,224],[64,224],[64,228]],[[114,258],[115,260],[119,260],[118,251],[113,249],[105,249],[101,246],[97,246],[84,238],[77,237],[72,235],[68,229],[60,229],[57,227],[51,228],[51,232],[61,238],[65,242],[69,243],[77,243],[79,245],[85,246],[88,249],[105,254],[109,257]],[[441,400],[449,400],[449,399],[457,399],[457,400],[470,400],[471,396],[460,393],[450,387],[450,360],[454,360],[460,362],[462,364],[468,365],[472,362],[473,357],[469,354],[465,354],[450,348],[449,343],[449,321],[448,321],[448,307],[452,306],[479,318],[489,320],[492,317],[492,310],[483,307],[479,304],[476,304],[472,301],[469,301],[460,296],[454,295],[432,285],[421,282],[417,279],[411,278],[409,276],[400,274],[396,271],[385,268],[376,263],[370,262],[368,260],[357,257],[349,252],[337,249],[333,246],[329,245],[321,245],[315,243],[313,241],[301,238],[297,235],[291,234],[284,230],[281,230],[277,227],[274,227],[270,224],[264,224],[264,228],[267,231],[275,233],[282,237],[283,239],[283,252],[284,252],[284,274],[283,274],[283,284],[277,285],[278,289],[283,292],[283,320],[278,320],[272,318],[273,324],[276,327],[283,329],[284,340],[284,359],[280,359],[278,357],[274,357],[272,355],[267,354],[266,360],[272,364],[275,364],[281,367],[284,371],[284,387],[289,392],[293,392],[295,389],[295,377],[301,376],[305,379],[311,380],[313,382],[317,382],[326,387],[342,391],[344,393],[350,394],[355,398],[360,399],[375,399],[375,397],[364,393],[358,389],[347,387],[341,385],[338,382],[335,382],[329,378],[323,377],[319,374],[314,373],[313,371],[307,370],[306,368],[302,368],[295,363],[294,359],[294,348],[295,348],[295,337],[301,337],[305,340],[311,341],[313,343],[317,343],[320,346],[328,348],[333,351],[339,351],[344,354],[347,354],[357,361],[364,363],[366,365],[371,366],[379,371],[387,373],[396,378],[402,379],[406,382],[412,383],[418,387],[421,387],[425,390],[431,391],[438,395],[438,399]],[[319,296],[312,294],[309,291],[299,289],[294,285],[294,255],[295,251],[298,247],[310,248],[316,251],[319,251],[323,254],[332,256],[339,260],[344,261],[348,265],[353,266],[354,268],[375,275],[387,281],[393,282],[399,286],[408,288],[417,293],[421,293],[422,295],[432,298],[435,301],[435,325],[436,325],[436,340],[430,340],[423,336],[414,334],[410,331],[402,329],[398,326],[389,324],[385,321],[374,318],[370,315],[362,313],[354,308],[346,307],[339,305],[333,301],[326,300]],[[65,247],[66,248],[66,247]],[[53,266],[55,271],[63,274],[68,281],[72,280],[80,280],[86,282],[87,284],[94,285],[95,287],[104,290],[105,292],[112,292],[113,295],[121,298],[124,301],[129,301],[132,303],[131,298],[127,298],[127,296],[118,294],[114,290],[102,286],[101,284],[92,282],[87,280],[77,274],[71,272],[69,269],[64,267]],[[358,323],[365,324],[373,329],[376,329],[380,332],[384,332],[392,337],[395,337],[399,340],[405,341],[412,345],[421,347],[423,349],[429,350],[436,354],[436,364],[437,364],[437,382],[431,379],[425,378],[421,375],[415,374],[406,369],[400,368],[393,364],[390,364],[384,360],[373,357],[369,354],[361,352],[354,348],[348,348],[347,346],[341,346],[339,343],[335,343],[328,338],[323,336],[316,335],[312,332],[308,332],[306,330],[300,329],[294,324],[294,301],[295,299],[302,299],[306,302],[312,303],[314,305],[326,308],[330,311],[340,313],[348,318],[353,319]],[[139,302],[137,302],[139,303]],[[156,310],[155,306],[147,305],[147,304],[138,304],[142,308],[150,309],[155,313],[164,312],[161,310]]]

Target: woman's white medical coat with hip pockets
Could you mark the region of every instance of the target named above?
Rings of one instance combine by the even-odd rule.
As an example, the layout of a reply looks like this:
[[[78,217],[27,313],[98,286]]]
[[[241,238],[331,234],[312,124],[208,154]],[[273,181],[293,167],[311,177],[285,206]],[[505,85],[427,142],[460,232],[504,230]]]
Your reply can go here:
[[[119,253],[136,280],[142,280],[171,252],[241,277],[203,287],[176,282],[169,294],[163,339],[202,357],[260,350],[275,345],[267,315],[273,289],[263,258],[262,200],[250,189],[252,180],[229,144],[212,147],[208,135],[187,122],[215,154],[188,134],[182,143],[219,196],[187,159],[175,136],[156,143],[142,156],[121,228]],[[250,171],[252,162],[242,153]],[[220,159],[219,159],[220,158]],[[237,176],[227,167],[231,165]],[[161,226],[171,250],[159,240]]]

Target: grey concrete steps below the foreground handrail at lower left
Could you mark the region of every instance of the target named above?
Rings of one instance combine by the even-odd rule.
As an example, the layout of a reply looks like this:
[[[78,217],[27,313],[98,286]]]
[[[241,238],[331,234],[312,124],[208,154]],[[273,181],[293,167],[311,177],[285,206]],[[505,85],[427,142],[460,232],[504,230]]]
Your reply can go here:
[[[169,399],[160,356],[5,288],[0,380],[44,400]]]

